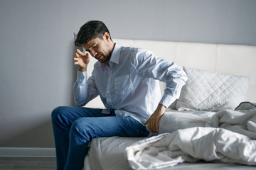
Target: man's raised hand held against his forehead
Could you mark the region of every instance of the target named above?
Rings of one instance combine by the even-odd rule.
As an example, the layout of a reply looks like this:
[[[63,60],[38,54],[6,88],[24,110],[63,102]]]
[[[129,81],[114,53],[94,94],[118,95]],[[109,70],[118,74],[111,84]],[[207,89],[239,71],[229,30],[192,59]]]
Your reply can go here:
[[[79,49],[77,49],[74,60],[74,64],[80,66],[79,71],[85,72],[87,70],[87,64],[90,62],[89,53],[83,53]]]

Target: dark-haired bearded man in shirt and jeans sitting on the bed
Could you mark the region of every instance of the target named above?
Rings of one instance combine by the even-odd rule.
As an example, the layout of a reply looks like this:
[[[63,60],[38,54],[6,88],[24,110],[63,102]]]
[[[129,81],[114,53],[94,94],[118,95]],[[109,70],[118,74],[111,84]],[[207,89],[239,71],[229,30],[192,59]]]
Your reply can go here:
[[[58,169],[82,169],[92,138],[145,137],[149,131],[158,132],[161,116],[178,98],[187,79],[173,62],[146,50],[115,44],[101,21],[85,23],[75,45],[82,45],[98,60],[87,79],[90,56],[80,50],[75,53],[79,66],[73,87],[75,103],[85,106],[100,95],[106,109],[63,106],[53,110]],[[162,97],[156,79],[166,82]]]

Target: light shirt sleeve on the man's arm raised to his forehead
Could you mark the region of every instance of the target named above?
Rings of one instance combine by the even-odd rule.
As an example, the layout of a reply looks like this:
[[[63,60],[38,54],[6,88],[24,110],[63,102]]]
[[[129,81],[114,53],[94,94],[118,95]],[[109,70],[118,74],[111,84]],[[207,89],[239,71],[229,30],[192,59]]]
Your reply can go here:
[[[99,94],[95,86],[94,74],[87,79],[87,72],[78,71],[77,80],[73,86],[74,101],[77,106],[85,106],[86,103]]]

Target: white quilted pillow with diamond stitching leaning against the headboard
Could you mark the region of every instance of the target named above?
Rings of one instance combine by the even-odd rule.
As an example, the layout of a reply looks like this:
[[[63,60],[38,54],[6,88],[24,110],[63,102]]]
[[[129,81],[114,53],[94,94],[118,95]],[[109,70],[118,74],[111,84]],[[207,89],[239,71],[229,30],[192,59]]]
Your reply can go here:
[[[178,111],[235,109],[245,101],[250,77],[233,76],[184,67],[188,81],[181,90]]]

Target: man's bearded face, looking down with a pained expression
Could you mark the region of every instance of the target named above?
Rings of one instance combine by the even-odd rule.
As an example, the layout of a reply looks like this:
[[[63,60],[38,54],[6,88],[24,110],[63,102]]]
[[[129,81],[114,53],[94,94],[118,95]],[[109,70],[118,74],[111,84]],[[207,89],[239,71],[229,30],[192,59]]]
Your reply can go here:
[[[103,40],[100,38],[95,38],[89,40],[86,44],[82,44],[87,52],[95,57],[98,61],[102,63],[109,62],[110,60],[110,47],[107,45],[107,40],[103,36]]]

